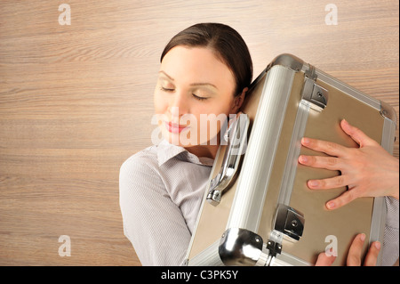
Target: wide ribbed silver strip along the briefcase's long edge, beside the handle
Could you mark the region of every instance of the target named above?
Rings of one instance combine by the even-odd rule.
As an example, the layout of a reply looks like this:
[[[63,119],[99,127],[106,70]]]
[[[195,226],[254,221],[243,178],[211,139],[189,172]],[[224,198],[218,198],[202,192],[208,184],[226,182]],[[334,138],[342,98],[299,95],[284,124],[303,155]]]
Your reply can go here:
[[[243,228],[258,231],[294,74],[292,69],[279,65],[268,71],[227,229]]]

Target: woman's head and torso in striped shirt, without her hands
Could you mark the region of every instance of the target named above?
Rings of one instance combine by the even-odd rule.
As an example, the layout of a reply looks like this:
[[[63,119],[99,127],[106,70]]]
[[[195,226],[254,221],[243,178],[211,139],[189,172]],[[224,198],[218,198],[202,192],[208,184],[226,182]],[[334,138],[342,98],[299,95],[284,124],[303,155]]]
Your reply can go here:
[[[124,234],[141,264],[183,263],[221,127],[251,82],[252,59],[233,28],[197,24],[165,46],[154,94],[164,141],[128,158],[120,172]]]

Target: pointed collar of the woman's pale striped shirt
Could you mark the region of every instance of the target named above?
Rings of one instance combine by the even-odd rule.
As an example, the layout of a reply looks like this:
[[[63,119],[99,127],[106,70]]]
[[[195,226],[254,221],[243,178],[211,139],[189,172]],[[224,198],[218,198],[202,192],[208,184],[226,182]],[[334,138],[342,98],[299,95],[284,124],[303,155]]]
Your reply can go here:
[[[162,166],[165,162],[169,161],[172,158],[180,158],[181,160],[203,165],[203,166],[212,166],[214,160],[212,158],[201,157],[198,158],[195,154],[188,152],[185,148],[177,145],[173,145],[166,140],[163,140],[157,145],[157,159],[158,166]]]

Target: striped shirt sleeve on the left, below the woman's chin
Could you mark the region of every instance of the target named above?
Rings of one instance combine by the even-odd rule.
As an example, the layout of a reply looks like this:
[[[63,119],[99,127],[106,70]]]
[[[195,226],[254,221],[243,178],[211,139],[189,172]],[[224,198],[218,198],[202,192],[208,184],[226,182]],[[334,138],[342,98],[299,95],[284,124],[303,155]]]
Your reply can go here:
[[[140,263],[182,264],[191,235],[161,177],[145,161],[131,158],[121,166],[119,184],[124,235]]]

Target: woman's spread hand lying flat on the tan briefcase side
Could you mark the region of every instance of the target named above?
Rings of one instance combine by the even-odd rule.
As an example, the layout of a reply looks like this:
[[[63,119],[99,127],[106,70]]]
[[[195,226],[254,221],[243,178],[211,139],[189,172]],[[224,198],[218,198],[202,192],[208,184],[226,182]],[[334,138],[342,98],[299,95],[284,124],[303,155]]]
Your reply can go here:
[[[301,144],[311,150],[324,152],[331,157],[300,155],[299,162],[305,166],[339,170],[340,175],[322,180],[309,180],[311,190],[327,190],[348,186],[340,197],[326,203],[328,209],[342,207],[360,197],[399,195],[399,163],[378,142],[361,130],[350,126],[346,120],[340,122],[359,148],[347,148],[333,142],[303,138]]]

